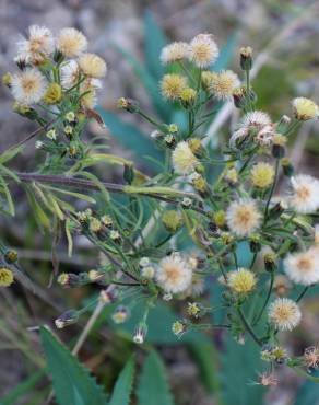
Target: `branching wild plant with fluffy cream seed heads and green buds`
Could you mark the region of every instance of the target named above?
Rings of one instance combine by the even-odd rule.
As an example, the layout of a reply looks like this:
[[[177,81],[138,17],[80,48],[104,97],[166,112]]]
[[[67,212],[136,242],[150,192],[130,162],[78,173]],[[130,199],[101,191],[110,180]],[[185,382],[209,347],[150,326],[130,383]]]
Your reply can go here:
[[[19,70],[7,73],[3,83],[15,99],[13,109],[37,121],[39,128],[0,157],[1,211],[14,215],[8,184],[17,183],[25,188],[42,228],[64,227],[70,254],[76,234],[103,254],[95,269],[61,273],[57,282],[62,288],[99,286],[94,303],[103,308],[118,302],[111,316],[115,323],[126,322],[134,302],[142,300],[144,313],[132,336],[137,344],[145,339],[149,312],[158,300],[182,300],[186,315],[172,326],[178,337],[203,328],[225,328],[238,343],[250,336],[269,364],[260,384],[277,383],[274,369],[279,364],[317,381],[311,371],[319,364],[318,348],[292,357],[280,340],[282,331],[299,325],[302,299],[319,281],[319,181],[294,173],[286,157],[291,135],[303,121],[317,118],[317,104],[297,97],[292,116],[273,121],[256,106],[250,47],[240,49],[240,81],[231,70],[210,70],[218,56],[212,35],[172,43],[163,49],[161,61],[168,69],[174,63],[175,69],[163,77],[160,91],[167,103],[180,105],[188,117],[187,129],[158,123],[133,100],[118,101],[119,108],[153,126],[154,148],[164,151],[162,172],[150,177],[131,162],[99,153],[105,148],[101,139],[83,139],[90,119],[103,125],[93,108],[107,68],[101,57],[87,53],[81,32],[63,28],[54,37],[48,28],[32,26],[17,48]],[[221,103],[232,100],[240,119],[222,159],[212,159],[202,128]],[[8,162],[34,138],[43,159],[37,171],[9,169]],[[123,164],[123,184],[98,178],[93,169],[104,157]],[[212,172],[218,173],[213,183]],[[285,176],[286,188],[279,198],[280,175]],[[99,209],[94,207],[92,190],[104,201]],[[113,193],[127,196],[127,207],[119,207]],[[79,200],[90,206],[79,211],[73,206]],[[144,210],[147,201],[152,204]],[[152,232],[154,218],[163,224],[164,238],[155,228]],[[176,247],[180,234],[191,240],[192,253]],[[249,244],[252,256],[246,267],[237,255],[243,242]],[[8,287],[16,278],[29,288],[16,254],[4,243],[0,248],[0,285]],[[262,266],[256,265],[258,257]],[[205,288],[216,282],[223,289],[218,308],[224,322],[208,324],[206,315],[216,309],[205,302]],[[304,288],[299,296],[298,286]],[[258,304],[250,308],[253,298]],[[64,312],[56,326],[75,323],[87,310]]]

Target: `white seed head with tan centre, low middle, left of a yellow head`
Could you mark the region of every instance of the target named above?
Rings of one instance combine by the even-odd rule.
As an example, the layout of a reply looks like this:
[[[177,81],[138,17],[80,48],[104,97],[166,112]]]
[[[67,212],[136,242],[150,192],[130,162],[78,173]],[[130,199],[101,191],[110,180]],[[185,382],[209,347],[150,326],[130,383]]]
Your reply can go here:
[[[167,293],[186,291],[192,280],[192,269],[179,254],[163,258],[156,270],[156,280]]]

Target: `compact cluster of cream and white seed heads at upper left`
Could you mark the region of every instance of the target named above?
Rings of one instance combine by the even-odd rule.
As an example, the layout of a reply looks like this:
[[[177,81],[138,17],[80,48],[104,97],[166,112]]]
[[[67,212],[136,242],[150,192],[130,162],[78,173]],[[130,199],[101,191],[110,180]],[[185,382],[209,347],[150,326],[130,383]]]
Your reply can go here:
[[[107,67],[86,50],[87,39],[75,28],[62,28],[55,37],[47,27],[32,25],[17,42],[14,60],[20,71],[7,73],[3,81],[21,106],[59,104],[64,93],[78,86],[81,104],[93,108]]]

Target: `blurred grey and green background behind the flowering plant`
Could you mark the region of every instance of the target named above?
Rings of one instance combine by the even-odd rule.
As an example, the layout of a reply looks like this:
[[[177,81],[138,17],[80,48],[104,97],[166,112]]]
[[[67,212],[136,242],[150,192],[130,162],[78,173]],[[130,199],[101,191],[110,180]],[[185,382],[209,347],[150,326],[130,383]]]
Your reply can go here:
[[[135,116],[118,113],[116,103],[123,95],[137,99],[145,109],[160,115],[167,124],[179,121],[178,112],[163,109],[156,95],[157,80],[163,72],[156,61],[161,46],[167,40],[189,40],[201,32],[213,33],[223,49],[218,60],[221,68],[232,68],[238,73],[238,48],[252,46],[258,107],[276,119],[291,114],[290,100],[297,94],[319,101],[318,18],[319,2],[306,0],[0,0],[0,71],[3,74],[13,70],[15,42],[19,33],[25,33],[28,25],[46,25],[54,33],[66,26],[81,30],[88,37],[92,51],[104,57],[109,69],[99,96],[99,112],[103,112],[107,128],[102,129],[92,123],[86,136],[107,136],[113,153],[132,159],[138,166],[152,173],[154,167],[150,161],[141,158],[153,153],[147,138],[151,127]],[[11,112],[11,105],[10,93],[1,86],[0,152],[34,129],[32,124]],[[209,128],[213,139],[228,136],[229,126],[238,118],[236,114],[227,104],[222,107]],[[295,166],[317,176],[318,129],[318,123],[306,123],[290,144]],[[36,163],[34,143],[31,142],[15,165],[27,171],[34,170]],[[108,181],[118,181],[122,173],[114,167],[103,175]],[[19,251],[24,269],[37,281],[38,294],[33,296],[19,285],[0,291],[0,398],[7,398],[3,404],[43,404],[49,386],[43,374],[36,374],[44,367],[44,359],[37,335],[29,333],[27,327],[44,323],[52,325],[57,313],[76,308],[91,291],[72,290],[66,297],[59,286],[47,289],[52,269],[51,238],[38,232],[21,190],[16,190],[15,200],[16,218],[12,221],[0,217],[0,238]],[[76,241],[72,258],[67,257],[66,241],[54,243],[63,271],[87,270],[95,265],[95,252],[81,239]],[[316,297],[309,297],[306,302],[309,311],[304,331],[307,334],[297,332],[287,343],[295,354],[318,340],[317,301]],[[225,405],[257,405],[262,401],[271,405],[295,404],[303,383],[295,374],[281,369],[281,384],[261,400],[262,391],[248,386],[257,363],[246,358],[247,349],[235,349],[231,340],[222,342],[218,334],[211,338],[215,345],[211,345],[210,339],[178,343],[168,331],[167,314],[162,315],[158,314],[163,317],[160,326],[154,323],[151,342],[163,355],[176,404],[214,404],[216,384],[222,384],[227,392]],[[169,316],[172,321],[172,314]],[[105,319],[99,324],[101,332],[92,334],[80,358],[108,389],[132,345],[122,331],[114,329]],[[72,342],[80,328],[72,326],[60,336]],[[217,358],[216,347],[224,348],[227,355]],[[138,356],[143,358],[142,352]],[[221,381],[216,374],[226,369]],[[35,381],[32,390],[10,396],[14,386],[31,377]]]

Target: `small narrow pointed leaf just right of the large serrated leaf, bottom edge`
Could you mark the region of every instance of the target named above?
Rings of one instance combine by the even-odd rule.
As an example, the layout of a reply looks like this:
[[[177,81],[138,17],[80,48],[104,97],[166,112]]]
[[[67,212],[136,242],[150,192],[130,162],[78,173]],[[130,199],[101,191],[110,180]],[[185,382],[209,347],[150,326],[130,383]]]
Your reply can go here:
[[[128,405],[133,386],[135,362],[131,357],[115,384],[108,405]]]

